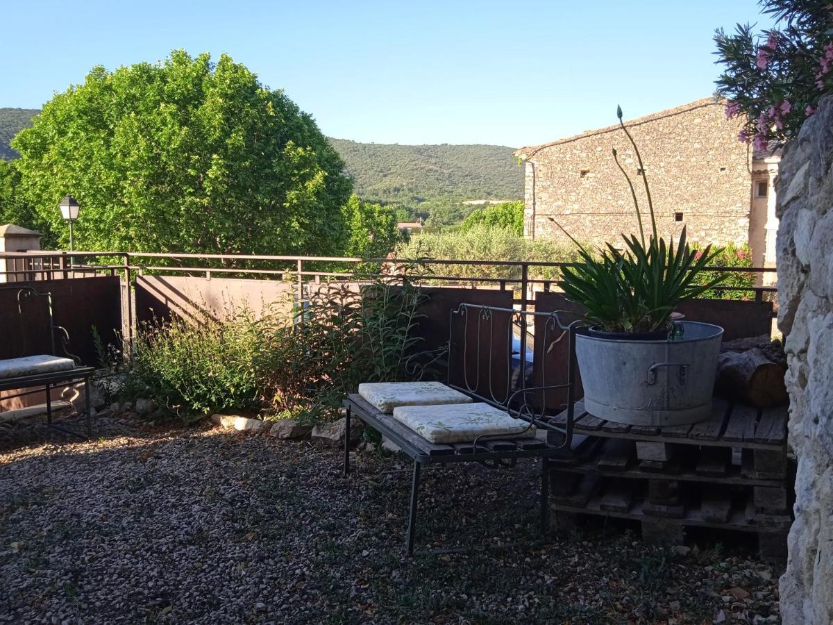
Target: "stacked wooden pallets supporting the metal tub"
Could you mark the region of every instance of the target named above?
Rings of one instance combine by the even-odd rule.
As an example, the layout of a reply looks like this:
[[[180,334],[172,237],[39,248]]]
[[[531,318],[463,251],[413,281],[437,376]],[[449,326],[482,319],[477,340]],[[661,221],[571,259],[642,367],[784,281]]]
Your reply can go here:
[[[566,414],[554,420],[565,423]],[[754,532],[762,557],[786,557],[786,422],[786,408],[715,399],[707,421],[646,428],[596,418],[576,404],[575,431],[596,445],[553,468],[552,518],[558,527],[581,514],[633,519],[646,542],[681,543],[686,527]]]

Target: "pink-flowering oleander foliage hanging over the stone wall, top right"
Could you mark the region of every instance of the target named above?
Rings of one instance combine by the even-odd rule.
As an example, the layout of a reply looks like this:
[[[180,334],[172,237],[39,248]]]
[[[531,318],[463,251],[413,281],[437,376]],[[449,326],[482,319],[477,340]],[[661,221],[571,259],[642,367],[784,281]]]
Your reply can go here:
[[[798,135],[819,99],[833,90],[833,11],[828,0],[759,0],[776,20],[772,30],[715,34],[723,73],[717,92],[728,99],[726,115],[738,115],[741,139],[756,149]]]

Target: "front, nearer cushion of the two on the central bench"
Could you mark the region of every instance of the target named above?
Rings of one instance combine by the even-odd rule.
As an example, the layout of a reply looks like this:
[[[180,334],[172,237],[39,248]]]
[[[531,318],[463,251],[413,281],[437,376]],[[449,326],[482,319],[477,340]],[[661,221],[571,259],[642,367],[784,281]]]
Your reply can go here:
[[[472,443],[482,434],[499,434],[506,438],[535,436],[535,427],[523,419],[488,403],[465,406],[400,406],[393,418],[435,444]]]

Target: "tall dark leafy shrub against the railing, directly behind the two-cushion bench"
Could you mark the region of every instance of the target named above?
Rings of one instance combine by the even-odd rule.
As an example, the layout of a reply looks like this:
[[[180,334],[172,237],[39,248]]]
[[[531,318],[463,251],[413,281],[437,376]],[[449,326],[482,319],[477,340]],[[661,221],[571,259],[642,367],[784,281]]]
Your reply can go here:
[[[327,421],[359,383],[407,379],[423,299],[407,278],[323,284],[297,323],[277,328],[259,350],[263,398],[275,413]]]

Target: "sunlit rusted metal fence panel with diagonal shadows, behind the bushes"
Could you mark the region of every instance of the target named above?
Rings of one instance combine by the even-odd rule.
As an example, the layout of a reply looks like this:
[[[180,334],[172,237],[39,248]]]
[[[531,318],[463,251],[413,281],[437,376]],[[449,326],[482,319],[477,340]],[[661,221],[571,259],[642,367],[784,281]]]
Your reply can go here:
[[[289,315],[292,285],[278,280],[139,276],[136,278],[137,323],[177,315],[198,319],[204,314],[228,318],[243,309],[256,318],[269,308]]]

